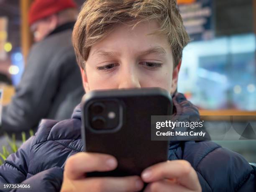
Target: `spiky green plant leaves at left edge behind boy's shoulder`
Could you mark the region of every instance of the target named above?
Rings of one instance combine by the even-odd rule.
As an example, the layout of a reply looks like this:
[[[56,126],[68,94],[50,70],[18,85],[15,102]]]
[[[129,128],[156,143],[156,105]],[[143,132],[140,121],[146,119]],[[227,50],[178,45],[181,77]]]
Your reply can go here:
[[[16,142],[16,135],[13,133],[11,138],[10,136],[6,133],[5,134],[8,138],[8,145],[10,146],[11,148],[11,151],[8,151],[7,147],[6,146],[2,146],[2,153],[0,153],[0,157],[3,159],[0,158],[0,165],[3,164],[3,161],[5,161],[5,159],[12,153],[15,153],[18,148],[20,146],[17,145],[17,142]],[[30,136],[33,136],[34,133],[33,133],[33,130],[30,130],[29,131],[29,135]],[[22,137],[22,143],[24,143],[26,141],[26,133],[25,132],[21,132],[21,137]]]

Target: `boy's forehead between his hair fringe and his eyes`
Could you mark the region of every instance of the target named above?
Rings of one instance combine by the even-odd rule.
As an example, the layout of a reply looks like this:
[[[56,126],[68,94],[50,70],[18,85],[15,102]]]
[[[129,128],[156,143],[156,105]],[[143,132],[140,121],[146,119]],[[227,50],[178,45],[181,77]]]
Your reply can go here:
[[[140,54],[156,53],[160,55],[171,51],[168,38],[159,33],[156,21],[141,22],[135,27],[132,25],[120,24],[113,28],[113,31],[101,41],[91,47],[91,56],[111,56],[118,52],[130,49]]]

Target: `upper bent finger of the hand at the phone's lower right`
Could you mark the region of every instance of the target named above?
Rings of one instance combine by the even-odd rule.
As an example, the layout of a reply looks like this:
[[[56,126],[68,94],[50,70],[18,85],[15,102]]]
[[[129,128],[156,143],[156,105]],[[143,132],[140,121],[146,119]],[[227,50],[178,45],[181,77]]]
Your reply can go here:
[[[174,160],[155,164],[141,174],[144,182],[154,182],[162,179],[177,178],[177,181],[189,189],[200,189],[200,183],[195,170],[188,161]]]

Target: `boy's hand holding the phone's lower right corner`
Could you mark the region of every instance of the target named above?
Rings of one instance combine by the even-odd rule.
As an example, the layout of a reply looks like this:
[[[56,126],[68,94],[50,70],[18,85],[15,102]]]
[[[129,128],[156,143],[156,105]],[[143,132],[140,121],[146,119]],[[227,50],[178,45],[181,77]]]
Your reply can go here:
[[[145,192],[201,192],[197,173],[185,160],[166,161],[145,169],[141,177],[149,183]]]

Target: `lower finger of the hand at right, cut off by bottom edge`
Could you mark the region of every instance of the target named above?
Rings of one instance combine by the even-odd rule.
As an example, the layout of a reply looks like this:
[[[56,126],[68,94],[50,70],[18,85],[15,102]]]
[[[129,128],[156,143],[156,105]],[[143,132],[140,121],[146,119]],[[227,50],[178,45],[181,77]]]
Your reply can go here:
[[[153,182],[147,185],[144,192],[193,192],[190,189],[187,189],[186,187],[183,187],[179,184],[174,184],[171,182],[168,182],[166,180],[161,180],[157,182]]]

